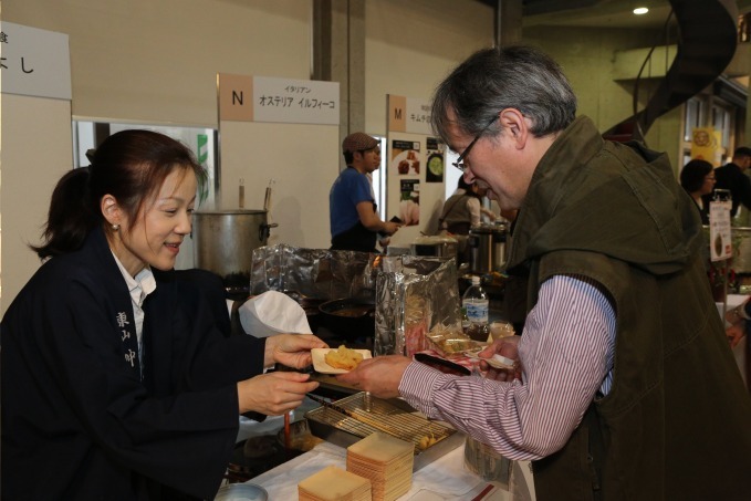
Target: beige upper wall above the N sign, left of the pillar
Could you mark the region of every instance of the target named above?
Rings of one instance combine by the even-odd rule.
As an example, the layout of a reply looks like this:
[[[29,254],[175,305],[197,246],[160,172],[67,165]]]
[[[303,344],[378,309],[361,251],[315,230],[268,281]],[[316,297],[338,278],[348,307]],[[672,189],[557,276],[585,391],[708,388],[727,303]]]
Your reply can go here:
[[[70,35],[73,115],[217,127],[217,73],[307,79],[310,0],[13,0]]]

